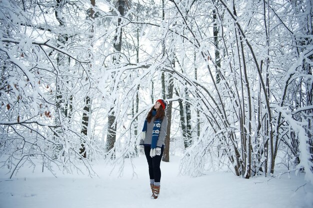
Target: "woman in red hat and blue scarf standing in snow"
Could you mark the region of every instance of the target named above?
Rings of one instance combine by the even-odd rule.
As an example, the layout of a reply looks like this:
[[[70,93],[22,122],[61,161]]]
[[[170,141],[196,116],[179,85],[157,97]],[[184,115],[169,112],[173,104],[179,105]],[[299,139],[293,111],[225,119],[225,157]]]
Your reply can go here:
[[[148,162],[152,199],[157,199],[160,191],[160,163],[167,128],[165,108],[164,100],[159,99],[155,102],[144,121],[141,133],[140,152],[144,152]]]

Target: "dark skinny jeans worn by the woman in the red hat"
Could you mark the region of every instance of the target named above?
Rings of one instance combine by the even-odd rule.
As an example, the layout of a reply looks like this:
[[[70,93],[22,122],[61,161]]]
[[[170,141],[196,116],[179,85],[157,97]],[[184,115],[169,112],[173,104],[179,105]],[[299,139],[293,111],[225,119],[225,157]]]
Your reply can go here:
[[[161,147],[161,155],[155,155],[153,158],[150,157],[150,147],[144,146],[144,155],[149,166],[149,177],[154,179],[154,182],[160,182],[161,180],[161,169],[160,163],[164,151],[164,147]]]

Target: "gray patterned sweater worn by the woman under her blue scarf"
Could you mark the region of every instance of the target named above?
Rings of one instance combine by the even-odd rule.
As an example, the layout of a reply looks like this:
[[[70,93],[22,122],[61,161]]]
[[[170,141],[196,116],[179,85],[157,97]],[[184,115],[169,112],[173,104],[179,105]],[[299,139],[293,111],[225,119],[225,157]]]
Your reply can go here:
[[[144,140],[141,139],[139,145],[144,146],[150,146],[152,142],[152,130],[153,130],[153,124],[154,124],[154,117],[152,117],[151,122],[147,123],[146,126],[146,132],[145,132],[145,138]],[[158,135],[156,147],[162,147],[164,145],[164,140],[166,136],[166,129],[167,129],[167,117],[164,116],[161,127],[160,127],[160,133]]]

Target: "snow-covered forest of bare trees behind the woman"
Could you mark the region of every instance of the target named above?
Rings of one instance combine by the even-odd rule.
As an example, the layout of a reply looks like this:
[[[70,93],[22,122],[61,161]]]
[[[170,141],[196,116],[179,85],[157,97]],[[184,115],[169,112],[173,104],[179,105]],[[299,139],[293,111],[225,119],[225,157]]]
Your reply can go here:
[[[0,0],[0,167],[122,175],[161,98],[180,174],[313,183],[312,15],[311,0]]]

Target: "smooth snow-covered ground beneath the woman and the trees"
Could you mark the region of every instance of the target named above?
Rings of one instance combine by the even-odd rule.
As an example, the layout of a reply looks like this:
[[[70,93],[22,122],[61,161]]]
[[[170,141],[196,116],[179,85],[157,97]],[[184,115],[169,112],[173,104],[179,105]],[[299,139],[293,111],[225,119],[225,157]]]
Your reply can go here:
[[[280,178],[249,180],[213,172],[198,178],[178,175],[179,157],[161,162],[160,196],[150,199],[144,156],[129,159],[123,176],[98,163],[98,178],[49,172],[29,173],[24,167],[8,179],[0,169],[0,208],[313,208],[313,186],[294,172]]]

